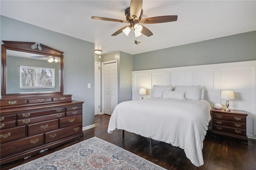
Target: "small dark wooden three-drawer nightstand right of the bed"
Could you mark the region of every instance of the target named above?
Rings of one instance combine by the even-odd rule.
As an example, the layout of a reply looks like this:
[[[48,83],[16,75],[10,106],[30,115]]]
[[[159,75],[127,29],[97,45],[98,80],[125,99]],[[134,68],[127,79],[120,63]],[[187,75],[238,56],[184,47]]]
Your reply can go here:
[[[237,138],[247,144],[246,117],[248,114],[245,111],[212,109],[211,114],[213,118],[212,134]]]

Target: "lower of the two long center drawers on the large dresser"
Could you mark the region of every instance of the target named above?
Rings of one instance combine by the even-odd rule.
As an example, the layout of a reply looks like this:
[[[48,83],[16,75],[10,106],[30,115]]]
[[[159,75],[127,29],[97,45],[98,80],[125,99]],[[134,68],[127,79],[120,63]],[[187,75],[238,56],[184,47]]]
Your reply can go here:
[[[48,120],[52,120],[52,119],[58,119],[60,117],[65,117],[65,112],[55,113],[55,114],[46,115],[46,116],[31,117],[31,118],[27,118],[27,119],[18,119],[17,125],[20,126],[20,125],[37,123],[37,122],[43,122],[43,121],[48,121]]]

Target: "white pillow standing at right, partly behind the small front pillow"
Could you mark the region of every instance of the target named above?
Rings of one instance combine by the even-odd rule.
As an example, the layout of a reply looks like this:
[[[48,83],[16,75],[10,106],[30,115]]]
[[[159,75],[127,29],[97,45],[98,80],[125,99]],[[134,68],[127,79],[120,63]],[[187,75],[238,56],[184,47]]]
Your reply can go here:
[[[175,91],[185,91],[185,99],[200,100],[201,99],[201,86],[182,86],[176,85]]]

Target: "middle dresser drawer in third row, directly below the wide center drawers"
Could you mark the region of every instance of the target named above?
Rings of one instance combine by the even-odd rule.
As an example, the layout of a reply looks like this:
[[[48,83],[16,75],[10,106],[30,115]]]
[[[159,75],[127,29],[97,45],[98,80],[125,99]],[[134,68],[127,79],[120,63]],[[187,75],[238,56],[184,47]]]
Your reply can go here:
[[[28,136],[58,129],[58,119],[28,125]]]

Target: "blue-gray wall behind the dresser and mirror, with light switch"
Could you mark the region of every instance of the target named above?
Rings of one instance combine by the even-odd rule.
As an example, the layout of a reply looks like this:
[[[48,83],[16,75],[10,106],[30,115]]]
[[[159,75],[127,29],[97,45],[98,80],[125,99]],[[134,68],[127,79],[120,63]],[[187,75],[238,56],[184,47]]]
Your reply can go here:
[[[0,39],[42,43],[64,52],[64,94],[84,101],[83,127],[94,124],[94,43],[0,16]],[[87,88],[91,83],[91,88]]]

